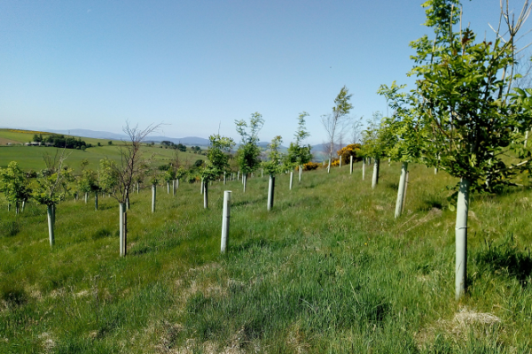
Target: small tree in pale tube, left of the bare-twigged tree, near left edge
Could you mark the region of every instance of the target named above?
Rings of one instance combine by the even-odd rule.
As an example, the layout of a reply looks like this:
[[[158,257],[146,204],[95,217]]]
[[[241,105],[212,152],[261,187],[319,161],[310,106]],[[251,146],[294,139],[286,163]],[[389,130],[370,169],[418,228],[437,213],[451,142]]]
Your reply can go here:
[[[39,204],[46,205],[48,212],[48,235],[50,245],[55,243],[55,212],[56,205],[64,200],[68,192],[68,182],[72,180],[71,171],[64,165],[66,149],[57,150],[55,156],[44,155],[46,168],[38,173],[37,188],[34,189],[33,197]]]

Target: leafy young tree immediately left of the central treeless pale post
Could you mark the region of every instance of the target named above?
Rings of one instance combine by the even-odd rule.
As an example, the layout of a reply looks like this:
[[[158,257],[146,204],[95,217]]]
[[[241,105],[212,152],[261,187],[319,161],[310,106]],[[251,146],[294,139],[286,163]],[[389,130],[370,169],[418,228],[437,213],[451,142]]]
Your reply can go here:
[[[201,170],[203,179],[203,207],[207,209],[208,202],[208,182],[215,181],[229,171],[229,152],[235,146],[235,142],[228,137],[220,135],[210,135],[210,142],[207,149],[207,161],[205,167]]]

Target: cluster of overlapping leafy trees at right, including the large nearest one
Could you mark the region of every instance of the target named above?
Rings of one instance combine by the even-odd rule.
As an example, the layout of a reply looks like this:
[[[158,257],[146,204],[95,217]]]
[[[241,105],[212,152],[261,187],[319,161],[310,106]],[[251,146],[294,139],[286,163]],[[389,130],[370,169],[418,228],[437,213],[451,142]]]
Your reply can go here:
[[[392,109],[364,132],[363,154],[379,161],[401,162],[395,217],[402,212],[408,164],[420,163],[459,179],[451,189],[450,210],[456,210],[456,297],[465,294],[467,216],[471,193],[497,193],[529,176],[532,151],[527,147],[532,125],[532,89],[515,88],[518,37],[531,4],[519,16],[501,2],[494,39],[477,39],[462,26],[458,0],[429,0],[424,35],[411,42],[415,66],[408,73],[415,85],[382,85]],[[528,60],[529,58],[527,58]],[[375,178],[375,177],[374,177]]]

